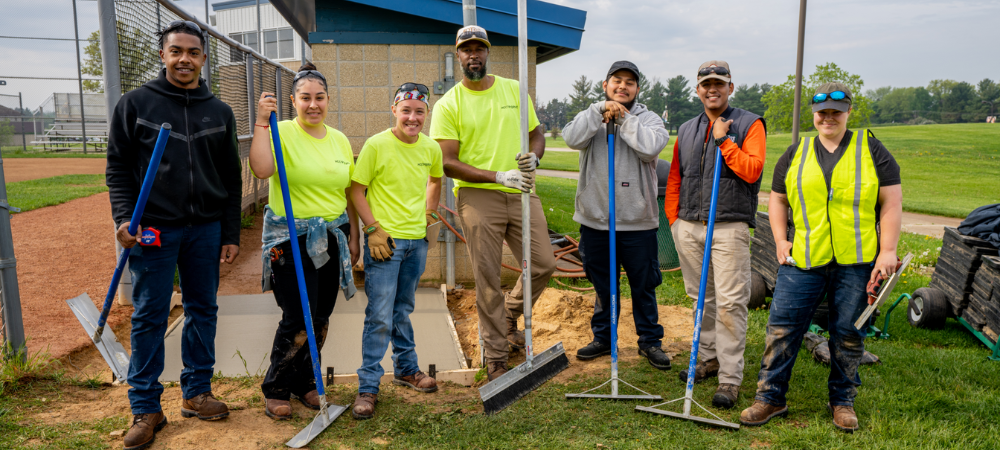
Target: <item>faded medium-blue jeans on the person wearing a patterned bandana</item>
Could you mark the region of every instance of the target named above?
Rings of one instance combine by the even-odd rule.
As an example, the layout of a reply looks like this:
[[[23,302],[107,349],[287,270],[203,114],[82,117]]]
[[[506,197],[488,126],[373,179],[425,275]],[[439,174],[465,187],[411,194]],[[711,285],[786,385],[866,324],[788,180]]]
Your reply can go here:
[[[417,282],[427,262],[427,241],[393,239],[396,249],[388,261],[372,259],[365,236],[365,328],[361,334],[361,367],[358,369],[358,392],[378,394],[378,384],[385,371],[382,358],[392,342],[393,373],[396,377],[413,375],[417,365],[416,344],[410,313],[416,301]]]

